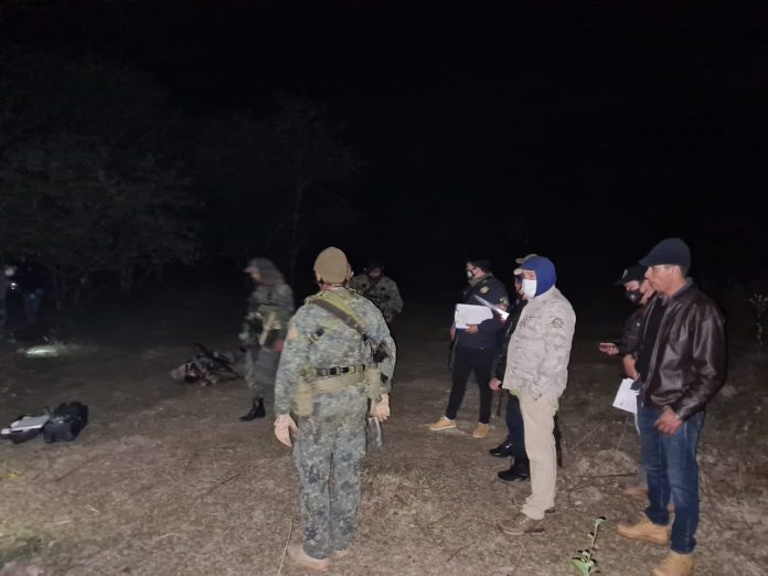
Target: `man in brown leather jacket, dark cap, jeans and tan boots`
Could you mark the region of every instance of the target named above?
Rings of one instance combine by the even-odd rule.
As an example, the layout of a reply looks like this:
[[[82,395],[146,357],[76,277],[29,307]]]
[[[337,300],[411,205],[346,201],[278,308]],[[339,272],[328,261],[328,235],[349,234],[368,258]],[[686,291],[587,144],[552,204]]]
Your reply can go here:
[[[686,278],[691,252],[680,238],[660,242],[640,264],[659,292],[646,316],[636,363],[642,382],[638,423],[649,505],[639,523],[620,524],[618,532],[670,545],[654,576],[686,576],[693,574],[698,525],[696,446],[706,404],[725,378],[724,319]]]

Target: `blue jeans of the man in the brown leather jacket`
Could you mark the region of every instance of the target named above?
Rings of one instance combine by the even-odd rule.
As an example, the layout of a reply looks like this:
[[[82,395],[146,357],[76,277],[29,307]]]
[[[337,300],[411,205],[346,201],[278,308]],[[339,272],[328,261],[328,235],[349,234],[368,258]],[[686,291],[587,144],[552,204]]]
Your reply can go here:
[[[698,466],[696,446],[704,426],[704,413],[691,416],[673,435],[661,434],[653,423],[661,410],[639,407],[638,424],[642,446],[642,466],[648,476],[646,515],[654,524],[670,522],[666,506],[674,503],[674,523],[670,547],[690,554],[696,546],[698,526]]]

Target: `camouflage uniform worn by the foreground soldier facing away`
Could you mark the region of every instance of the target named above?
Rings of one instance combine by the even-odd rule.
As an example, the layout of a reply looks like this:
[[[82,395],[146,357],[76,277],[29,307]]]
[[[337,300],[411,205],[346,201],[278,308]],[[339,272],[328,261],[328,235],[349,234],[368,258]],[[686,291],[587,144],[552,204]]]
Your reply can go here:
[[[391,358],[378,364],[387,382],[395,364],[395,344],[381,312],[346,288],[330,290],[354,311],[372,340],[386,342]],[[371,345],[356,330],[307,299],[290,321],[275,383],[275,414],[294,410],[298,437],[294,461],[299,471],[305,552],[328,558],[350,545],[360,504],[360,461],[365,454],[366,373]],[[354,369],[352,369],[354,366]],[[343,375],[317,375],[328,369],[352,369]],[[384,378],[382,378],[384,380]],[[301,390],[311,390],[309,409],[298,408]]]

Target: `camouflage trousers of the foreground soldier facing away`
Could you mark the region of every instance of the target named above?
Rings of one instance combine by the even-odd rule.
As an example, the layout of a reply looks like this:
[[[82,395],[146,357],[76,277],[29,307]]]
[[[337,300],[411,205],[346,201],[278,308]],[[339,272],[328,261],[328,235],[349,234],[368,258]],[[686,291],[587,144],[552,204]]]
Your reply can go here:
[[[364,412],[353,419],[299,419],[294,461],[299,471],[303,550],[328,558],[346,550],[360,505],[365,456]]]

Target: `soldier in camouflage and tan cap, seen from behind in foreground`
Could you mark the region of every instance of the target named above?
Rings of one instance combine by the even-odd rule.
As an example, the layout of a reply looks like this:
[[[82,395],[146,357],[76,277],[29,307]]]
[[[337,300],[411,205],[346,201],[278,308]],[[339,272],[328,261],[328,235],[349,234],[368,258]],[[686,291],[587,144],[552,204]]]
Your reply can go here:
[[[390,416],[395,345],[376,307],[345,287],[351,269],[343,252],[321,252],[314,273],[320,292],[291,319],[277,371],[275,436],[294,446],[300,480],[303,545],[289,546],[288,555],[324,572],[330,558],[348,554],[360,504],[367,401],[373,417]],[[384,360],[372,354],[377,343],[387,349]]]

